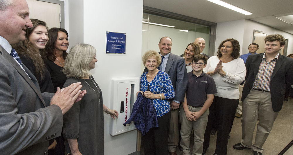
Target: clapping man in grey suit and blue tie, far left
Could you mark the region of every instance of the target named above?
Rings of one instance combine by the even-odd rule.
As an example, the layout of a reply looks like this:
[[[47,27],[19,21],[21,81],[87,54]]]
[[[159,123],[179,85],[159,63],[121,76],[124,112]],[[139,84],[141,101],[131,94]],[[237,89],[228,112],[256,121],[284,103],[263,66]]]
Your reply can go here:
[[[38,81],[11,48],[33,26],[28,16],[25,0],[0,1],[1,155],[47,154],[48,140],[61,135],[62,115],[86,93],[80,83],[58,88],[55,95],[40,92]]]

